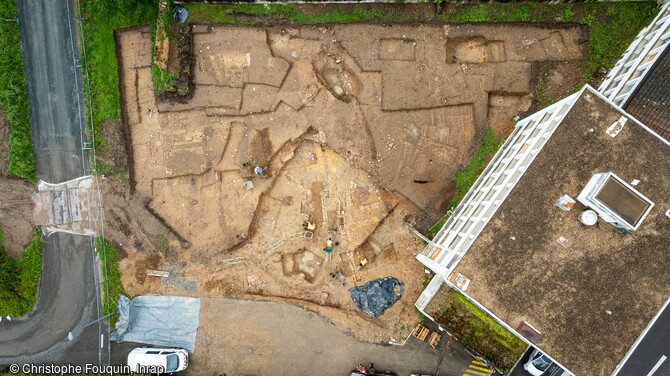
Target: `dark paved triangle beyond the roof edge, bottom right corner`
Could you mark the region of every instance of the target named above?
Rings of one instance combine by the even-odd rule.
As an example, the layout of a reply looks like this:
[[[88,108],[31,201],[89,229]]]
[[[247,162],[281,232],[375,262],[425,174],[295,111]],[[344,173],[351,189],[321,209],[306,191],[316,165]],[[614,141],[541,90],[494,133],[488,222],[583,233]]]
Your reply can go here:
[[[616,376],[670,376],[670,305],[658,316]],[[658,366],[658,367],[657,367]]]

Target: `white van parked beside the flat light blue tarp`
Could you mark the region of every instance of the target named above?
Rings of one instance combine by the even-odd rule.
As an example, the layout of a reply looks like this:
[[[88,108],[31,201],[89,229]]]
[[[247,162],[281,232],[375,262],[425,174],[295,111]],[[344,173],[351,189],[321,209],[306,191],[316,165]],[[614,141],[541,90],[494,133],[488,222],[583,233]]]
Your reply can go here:
[[[188,351],[138,347],[128,354],[128,366],[139,373],[178,372],[188,367]]]

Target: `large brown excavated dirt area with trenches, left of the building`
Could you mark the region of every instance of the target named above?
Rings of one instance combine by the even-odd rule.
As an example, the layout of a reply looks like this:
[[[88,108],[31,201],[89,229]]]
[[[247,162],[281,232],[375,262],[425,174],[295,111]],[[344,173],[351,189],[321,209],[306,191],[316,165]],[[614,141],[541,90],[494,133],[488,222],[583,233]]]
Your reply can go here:
[[[148,29],[117,32],[130,181],[104,185],[124,286],[290,302],[373,342],[419,319],[422,243],[409,225],[443,214],[489,124],[506,135],[529,108],[533,63],[586,53],[576,26],[192,32],[185,103],[156,101]],[[365,316],[348,289],[388,276],[405,294]]]

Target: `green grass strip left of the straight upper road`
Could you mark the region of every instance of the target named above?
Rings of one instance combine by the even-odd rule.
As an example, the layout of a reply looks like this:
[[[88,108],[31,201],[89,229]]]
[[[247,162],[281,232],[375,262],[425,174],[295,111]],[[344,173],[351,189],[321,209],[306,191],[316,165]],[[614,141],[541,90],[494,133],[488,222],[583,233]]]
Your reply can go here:
[[[7,114],[9,134],[9,167],[7,173],[35,181],[35,154],[30,137],[28,94],[23,74],[19,26],[14,0],[0,0],[0,111]]]

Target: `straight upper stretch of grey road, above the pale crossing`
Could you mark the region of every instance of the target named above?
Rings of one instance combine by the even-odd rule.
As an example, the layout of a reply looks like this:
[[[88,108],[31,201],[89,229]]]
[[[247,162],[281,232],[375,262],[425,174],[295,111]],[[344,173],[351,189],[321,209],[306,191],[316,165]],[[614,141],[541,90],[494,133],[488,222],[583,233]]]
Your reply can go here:
[[[21,0],[19,20],[37,178],[59,183],[84,173],[83,106],[74,18],[68,1]]]

